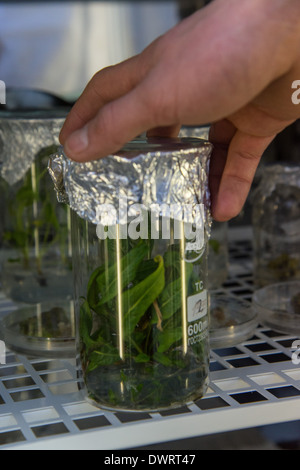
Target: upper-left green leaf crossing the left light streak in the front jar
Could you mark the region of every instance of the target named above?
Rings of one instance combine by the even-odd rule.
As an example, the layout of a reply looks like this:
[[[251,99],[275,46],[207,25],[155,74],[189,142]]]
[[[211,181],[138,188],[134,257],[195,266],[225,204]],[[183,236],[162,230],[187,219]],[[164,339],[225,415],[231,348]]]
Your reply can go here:
[[[118,273],[117,263],[108,269],[97,268],[92,274],[88,284],[88,301],[97,311],[98,307],[117,296],[118,277],[121,277],[121,288],[124,289],[133,281],[137,267],[147,254],[148,247],[140,243],[121,258],[121,276]]]

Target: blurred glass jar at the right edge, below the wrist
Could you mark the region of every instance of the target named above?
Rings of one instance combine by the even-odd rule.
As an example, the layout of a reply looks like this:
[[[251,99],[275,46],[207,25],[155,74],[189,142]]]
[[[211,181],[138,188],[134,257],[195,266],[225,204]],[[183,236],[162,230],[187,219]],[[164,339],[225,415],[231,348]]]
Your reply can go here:
[[[300,279],[300,167],[267,166],[253,195],[254,282]]]

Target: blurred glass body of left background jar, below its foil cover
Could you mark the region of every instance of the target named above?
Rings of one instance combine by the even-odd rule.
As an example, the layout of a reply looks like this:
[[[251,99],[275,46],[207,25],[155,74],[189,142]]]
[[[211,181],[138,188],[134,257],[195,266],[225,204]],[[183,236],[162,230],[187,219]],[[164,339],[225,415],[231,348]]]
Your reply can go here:
[[[6,183],[3,291],[16,302],[72,296],[70,208],[57,205],[47,171],[54,150],[43,149],[24,178]]]

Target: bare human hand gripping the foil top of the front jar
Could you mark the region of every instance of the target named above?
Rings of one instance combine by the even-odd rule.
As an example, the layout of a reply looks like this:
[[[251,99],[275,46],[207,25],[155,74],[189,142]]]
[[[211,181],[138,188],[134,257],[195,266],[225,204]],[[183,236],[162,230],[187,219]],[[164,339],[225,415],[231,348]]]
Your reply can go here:
[[[299,0],[214,0],[142,53],[99,71],[75,103],[60,141],[85,162],[147,131],[176,136],[212,123],[212,214],[239,214],[266,148],[300,117]]]

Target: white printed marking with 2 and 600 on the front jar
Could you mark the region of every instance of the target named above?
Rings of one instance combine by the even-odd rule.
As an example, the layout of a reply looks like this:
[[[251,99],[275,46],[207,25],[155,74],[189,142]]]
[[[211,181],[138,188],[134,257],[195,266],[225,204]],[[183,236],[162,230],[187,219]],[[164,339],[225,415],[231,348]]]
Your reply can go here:
[[[202,341],[208,333],[207,291],[187,298],[188,345]]]

